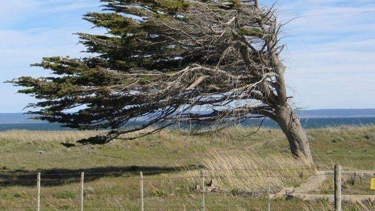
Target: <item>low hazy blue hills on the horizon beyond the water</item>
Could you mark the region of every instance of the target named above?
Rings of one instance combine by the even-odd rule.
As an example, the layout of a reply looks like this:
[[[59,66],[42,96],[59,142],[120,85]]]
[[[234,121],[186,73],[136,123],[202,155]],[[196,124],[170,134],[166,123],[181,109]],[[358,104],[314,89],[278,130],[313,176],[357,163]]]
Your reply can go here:
[[[375,117],[375,109],[317,109],[299,110],[300,118],[350,118],[350,117]],[[29,119],[32,115],[23,113],[0,113],[0,124],[12,123],[40,123],[35,119]]]

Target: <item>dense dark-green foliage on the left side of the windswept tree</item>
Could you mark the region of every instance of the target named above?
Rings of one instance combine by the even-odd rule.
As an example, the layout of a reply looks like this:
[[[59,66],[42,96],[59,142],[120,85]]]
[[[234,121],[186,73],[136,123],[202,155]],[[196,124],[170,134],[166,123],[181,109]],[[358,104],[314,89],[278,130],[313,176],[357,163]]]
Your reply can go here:
[[[95,57],[43,57],[31,66],[51,71],[49,77],[23,76],[12,81],[24,93],[39,99],[28,108],[40,109],[39,119],[58,122],[82,130],[118,129],[131,118],[142,116],[154,102],[163,99],[138,98],[135,91],[121,93],[116,87],[140,85],[160,78],[149,76],[123,80],[119,74],[132,68],[173,72],[190,63],[207,62],[194,48],[178,45],[173,35],[165,34],[165,23],[184,21],[183,12],[192,5],[186,0],[102,0],[104,12],[88,12],[83,19],[107,30],[105,35],[77,33],[80,43]],[[186,20],[187,21],[187,20]],[[115,72],[114,72],[115,71]],[[118,74],[117,74],[118,73]],[[139,89],[138,91],[150,92]],[[66,110],[83,107],[78,112]],[[159,109],[162,106],[156,106]],[[151,111],[153,113],[155,111]],[[121,118],[119,118],[122,116]],[[107,143],[112,136],[96,136],[81,143]]]

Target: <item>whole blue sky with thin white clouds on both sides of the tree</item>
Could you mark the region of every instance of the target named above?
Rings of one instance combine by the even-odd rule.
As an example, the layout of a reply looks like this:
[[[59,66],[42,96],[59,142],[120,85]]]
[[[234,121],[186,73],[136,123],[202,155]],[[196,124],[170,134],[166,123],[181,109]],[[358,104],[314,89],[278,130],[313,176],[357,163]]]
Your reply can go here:
[[[272,0],[259,0],[272,5]],[[0,82],[48,74],[44,56],[84,57],[75,32],[104,33],[81,19],[99,0],[1,0]],[[288,93],[303,109],[375,108],[375,1],[279,0]],[[0,83],[0,113],[26,112],[31,96]]]

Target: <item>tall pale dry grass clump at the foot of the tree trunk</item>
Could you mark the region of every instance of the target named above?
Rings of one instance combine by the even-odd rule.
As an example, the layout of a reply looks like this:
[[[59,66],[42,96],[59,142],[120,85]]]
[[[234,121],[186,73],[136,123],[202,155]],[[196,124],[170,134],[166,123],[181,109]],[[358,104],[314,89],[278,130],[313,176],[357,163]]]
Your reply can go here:
[[[251,151],[213,152],[202,159],[205,179],[218,189],[237,193],[271,192],[298,186],[317,170],[308,160],[285,157],[279,153],[267,156]],[[197,169],[186,169],[182,176],[199,176]],[[196,178],[193,179],[196,182]]]

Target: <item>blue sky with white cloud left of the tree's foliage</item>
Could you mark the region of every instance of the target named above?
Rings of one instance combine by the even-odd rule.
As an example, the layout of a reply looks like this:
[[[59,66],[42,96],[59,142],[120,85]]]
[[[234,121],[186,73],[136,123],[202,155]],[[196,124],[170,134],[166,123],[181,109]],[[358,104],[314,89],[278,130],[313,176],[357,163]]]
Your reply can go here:
[[[72,33],[103,33],[81,20],[86,11],[98,11],[97,0],[9,0],[0,7],[0,82],[21,75],[38,77],[48,74],[30,68],[44,56],[84,56]],[[35,99],[15,94],[18,88],[0,83],[0,112],[21,112]]]

